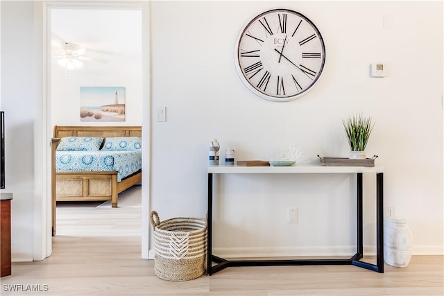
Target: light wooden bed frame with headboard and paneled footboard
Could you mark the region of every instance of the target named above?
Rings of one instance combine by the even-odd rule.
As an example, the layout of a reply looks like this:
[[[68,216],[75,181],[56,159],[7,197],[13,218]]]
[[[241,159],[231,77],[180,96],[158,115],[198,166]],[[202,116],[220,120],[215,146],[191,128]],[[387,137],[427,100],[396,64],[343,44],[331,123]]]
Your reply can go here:
[[[119,193],[142,182],[142,171],[117,182],[117,171],[56,172],[56,148],[62,137],[142,137],[141,126],[54,126],[52,151],[53,235],[56,234],[56,202],[111,200],[117,207]]]

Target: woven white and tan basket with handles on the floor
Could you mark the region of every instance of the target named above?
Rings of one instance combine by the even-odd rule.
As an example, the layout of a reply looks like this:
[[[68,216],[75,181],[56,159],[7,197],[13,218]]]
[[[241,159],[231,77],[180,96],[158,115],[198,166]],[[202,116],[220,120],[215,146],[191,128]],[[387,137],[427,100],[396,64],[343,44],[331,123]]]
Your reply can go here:
[[[188,281],[205,273],[207,218],[171,218],[160,222],[150,214],[154,229],[154,271],[160,279]]]

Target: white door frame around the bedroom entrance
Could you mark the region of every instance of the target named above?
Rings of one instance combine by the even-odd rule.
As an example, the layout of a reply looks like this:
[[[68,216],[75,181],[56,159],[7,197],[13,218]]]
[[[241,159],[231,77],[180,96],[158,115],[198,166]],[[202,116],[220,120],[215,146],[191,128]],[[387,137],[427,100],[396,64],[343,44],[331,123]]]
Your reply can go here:
[[[151,71],[149,1],[36,1],[35,53],[37,56],[35,120],[34,260],[52,253],[51,207],[51,10],[53,8],[125,8],[142,11],[142,245],[141,258],[148,259],[151,171]],[[41,40],[41,42],[40,42]],[[38,58],[40,55],[41,59]],[[41,63],[40,63],[41,61]],[[39,73],[40,72],[40,73]]]

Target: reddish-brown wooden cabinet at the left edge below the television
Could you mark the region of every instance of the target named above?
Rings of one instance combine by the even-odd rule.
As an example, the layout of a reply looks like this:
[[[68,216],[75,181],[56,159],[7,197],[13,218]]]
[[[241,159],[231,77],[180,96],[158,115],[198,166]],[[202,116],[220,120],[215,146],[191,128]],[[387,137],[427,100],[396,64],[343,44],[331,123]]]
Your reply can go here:
[[[12,193],[0,193],[0,277],[11,275],[11,200]]]

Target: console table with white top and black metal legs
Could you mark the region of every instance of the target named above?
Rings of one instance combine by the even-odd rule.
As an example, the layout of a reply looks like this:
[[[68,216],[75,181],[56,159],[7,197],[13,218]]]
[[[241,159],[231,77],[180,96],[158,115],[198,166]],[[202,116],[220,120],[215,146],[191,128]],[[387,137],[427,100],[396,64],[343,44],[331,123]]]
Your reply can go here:
[[[384,272],[384,167],[373,166],[209,166],[208,167],[208,234],[207,275],[230,266],[270,265],[356,265],[361,268]],[[360,261],[364,256],[363,245],[363,182],[362,175],[376,176],[376,264]],[[216,174],[355,174],[357,183],[357,253],[350,259],[267,259],[228,260],[212,253],[213,175]],[[216,263],[216,265],[212,265]]]

